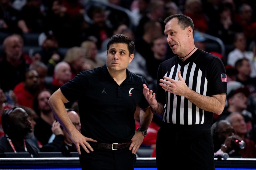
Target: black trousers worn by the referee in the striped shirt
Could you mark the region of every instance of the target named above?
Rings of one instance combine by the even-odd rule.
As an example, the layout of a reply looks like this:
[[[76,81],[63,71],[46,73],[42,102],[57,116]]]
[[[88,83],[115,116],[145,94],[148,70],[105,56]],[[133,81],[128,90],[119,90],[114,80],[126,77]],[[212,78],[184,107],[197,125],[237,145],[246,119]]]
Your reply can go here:
[[[211,125],[162,126],[157,134],[157,168],[212,170],[214,145]]]

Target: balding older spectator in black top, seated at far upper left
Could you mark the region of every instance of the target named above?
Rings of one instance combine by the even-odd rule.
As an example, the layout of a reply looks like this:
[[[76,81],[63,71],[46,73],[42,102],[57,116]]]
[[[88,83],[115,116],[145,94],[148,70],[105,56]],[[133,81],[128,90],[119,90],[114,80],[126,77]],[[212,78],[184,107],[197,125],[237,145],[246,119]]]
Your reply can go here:
[[[22,43],[17,36],[8,36],[3,41],[3,49],[6,56],[0,61],[0,84],[3,91],[9,91],[25,80],[28,65],[21,57]]]

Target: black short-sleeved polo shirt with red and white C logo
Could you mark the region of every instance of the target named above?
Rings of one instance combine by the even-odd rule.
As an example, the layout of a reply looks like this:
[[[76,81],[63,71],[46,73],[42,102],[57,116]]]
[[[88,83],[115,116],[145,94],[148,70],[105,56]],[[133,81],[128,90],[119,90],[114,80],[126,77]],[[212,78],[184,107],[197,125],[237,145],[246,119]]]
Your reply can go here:
[[[128,142],[135,132],[136,105],[147,108],[142,76],[126,70],[127,78],[119,86],[107,66],[79,73],[61,91],[69,101],[78,100],[81,133],[103,143]]]

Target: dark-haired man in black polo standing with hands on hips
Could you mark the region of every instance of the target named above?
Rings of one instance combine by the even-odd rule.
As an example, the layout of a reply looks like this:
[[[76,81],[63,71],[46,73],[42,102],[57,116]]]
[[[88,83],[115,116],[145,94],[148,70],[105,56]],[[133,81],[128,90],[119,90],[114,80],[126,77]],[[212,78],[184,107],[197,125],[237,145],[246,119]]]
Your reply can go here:
[[[133,60],[133,50],[132,40],[113,35],[107,45],[106,65],[79,73],[49,99],[55,116],[77,147],[82,169],[134,167],[135,153],[153,113],[142,93],[145,79],[126,69]],[[68,118],[64,106],[75,100],[79,105],[81,133]],[[142,110],[140,128],[134,133],[137,104]]]

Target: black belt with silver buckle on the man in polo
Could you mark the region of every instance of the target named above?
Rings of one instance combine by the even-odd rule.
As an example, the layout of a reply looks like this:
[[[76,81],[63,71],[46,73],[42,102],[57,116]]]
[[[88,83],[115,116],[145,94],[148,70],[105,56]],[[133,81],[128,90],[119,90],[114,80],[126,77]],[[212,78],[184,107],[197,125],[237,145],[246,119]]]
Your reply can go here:
[[[91,146],[95,146],[97,148],[104,148],[104,149],[112,149],[118,150],[129,147],[131,145],[131,141],[128,143],[99,143],[99,142],[88,142]]]

